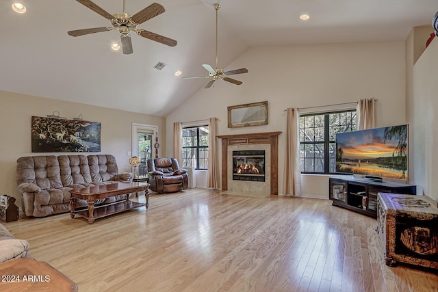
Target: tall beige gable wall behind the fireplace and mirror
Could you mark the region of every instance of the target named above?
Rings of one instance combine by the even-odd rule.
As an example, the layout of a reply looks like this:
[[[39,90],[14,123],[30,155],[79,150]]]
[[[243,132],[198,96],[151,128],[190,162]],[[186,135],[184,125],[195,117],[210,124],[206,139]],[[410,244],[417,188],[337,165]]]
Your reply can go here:
[[[218,135],[281,131],[279,194],[283,189],[287,107],[313,107],[378,98],[376,127],[405,122],[404,42],[366,42],[257,47],[245,51],[225,70],[248,68],[235,75],[244,83],[216,81],[201,89],[166,119],[172,153],[173,122],[218,118]],[[268,101],[269,124],[229,129],[227,106]],[[220,149],[220,143],[218,144]],[[219,157],[220,159],[220,157]],[[303,178],[303,195],[329,198],[328,181]],[[320,187],[314,187],[320,185]]]

